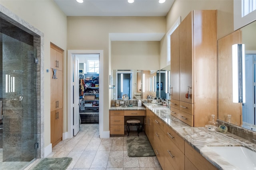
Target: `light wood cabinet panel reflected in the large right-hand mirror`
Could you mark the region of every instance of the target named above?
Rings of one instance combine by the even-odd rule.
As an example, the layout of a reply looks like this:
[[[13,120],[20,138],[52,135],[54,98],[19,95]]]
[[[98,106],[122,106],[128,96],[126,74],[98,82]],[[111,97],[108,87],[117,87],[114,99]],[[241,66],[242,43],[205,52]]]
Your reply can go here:
[[[218,40],[218,119],[228,121],[230,114],[231,123],[238,126],[242,124],[242,105],[233,103],[232,45],[239,43],[242,43],[240,30]]]

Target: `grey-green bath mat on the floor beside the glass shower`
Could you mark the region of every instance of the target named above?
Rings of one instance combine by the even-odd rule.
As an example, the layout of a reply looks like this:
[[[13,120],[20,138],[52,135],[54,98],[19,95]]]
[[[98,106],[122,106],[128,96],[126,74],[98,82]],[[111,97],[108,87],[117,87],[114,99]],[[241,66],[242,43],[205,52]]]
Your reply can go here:
[[[32,170],[66,170],[71,162],[70,157],[44,158]]]

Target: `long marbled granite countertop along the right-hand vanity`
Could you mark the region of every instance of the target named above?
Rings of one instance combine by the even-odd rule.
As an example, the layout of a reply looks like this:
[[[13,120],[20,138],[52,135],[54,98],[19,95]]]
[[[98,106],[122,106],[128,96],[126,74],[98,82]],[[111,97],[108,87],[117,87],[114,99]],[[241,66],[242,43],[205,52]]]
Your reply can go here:
[[[180,137],[182,137],[195,150],[204,156],[204,158],[220,170],[238,170],[238,168],[232,166],[232,164],[225,161],[224,158],[210,150],[210,146],[243,146],[256,152],[256,144],[233,135],[232,133],[209,131],[206,127],[190,127],[186,123],[170,115],[169,108],[157,109],[157,107],[154,107],[156,104],[152,103],[143,105],[152,110],[160,119],[162,119],[162,121],[166,123],[166,125],[172,127]]]

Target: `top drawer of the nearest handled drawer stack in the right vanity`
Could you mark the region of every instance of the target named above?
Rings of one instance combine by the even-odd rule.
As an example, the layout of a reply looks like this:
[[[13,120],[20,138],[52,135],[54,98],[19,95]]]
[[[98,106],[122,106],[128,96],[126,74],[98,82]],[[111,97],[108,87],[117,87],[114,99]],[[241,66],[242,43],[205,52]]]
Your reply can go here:
[[[176,145],[178,149],[180,149],[180,151],[184,154],[185,141],[184,139],[182,139],[182,137],[177,135],[177,133],[175,133],[174,130],[167,125],[164,125],[164,135],[164,141],[170,139],[174,143],[174,145]]]

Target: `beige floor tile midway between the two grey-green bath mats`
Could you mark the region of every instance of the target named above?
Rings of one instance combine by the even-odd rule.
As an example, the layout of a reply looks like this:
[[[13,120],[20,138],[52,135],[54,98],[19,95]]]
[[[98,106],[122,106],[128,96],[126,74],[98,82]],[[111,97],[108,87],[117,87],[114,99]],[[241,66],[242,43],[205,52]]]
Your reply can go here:
[[[109,154],[109,150],[97,151],[90,168],[107,168]]]

